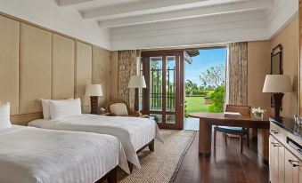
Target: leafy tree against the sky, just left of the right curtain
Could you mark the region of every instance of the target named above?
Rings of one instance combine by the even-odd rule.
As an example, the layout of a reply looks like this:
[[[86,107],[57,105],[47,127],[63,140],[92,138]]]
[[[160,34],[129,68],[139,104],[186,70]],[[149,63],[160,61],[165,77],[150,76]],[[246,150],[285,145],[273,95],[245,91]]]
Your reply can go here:
[[[225,83],[225,66],[224,64],[208,68],[201,72],[200,82],[205,88],[216,89]]]

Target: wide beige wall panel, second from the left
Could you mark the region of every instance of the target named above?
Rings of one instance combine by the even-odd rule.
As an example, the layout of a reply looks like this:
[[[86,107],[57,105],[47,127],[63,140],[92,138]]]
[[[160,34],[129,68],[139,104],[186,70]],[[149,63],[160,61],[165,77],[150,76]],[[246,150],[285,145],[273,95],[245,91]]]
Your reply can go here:
[[[20,114],[41,112],[51,98],[52,33],[20,24]]]

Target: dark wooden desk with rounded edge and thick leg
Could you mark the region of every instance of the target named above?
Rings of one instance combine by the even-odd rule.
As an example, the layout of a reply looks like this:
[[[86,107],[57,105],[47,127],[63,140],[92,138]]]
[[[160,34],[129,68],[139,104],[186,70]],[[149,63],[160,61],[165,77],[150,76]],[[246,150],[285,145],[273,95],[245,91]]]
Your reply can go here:
[[[269,129],[268,117],[264,120],[255,119],[249,115],[236,117],[226,117],[222,113],[191,113],[191,117],[200,118],[200,155],[208,156],[211,154],[212,125],[235,126],[244,128]],[[268,146],[268,142],[267,142]]]

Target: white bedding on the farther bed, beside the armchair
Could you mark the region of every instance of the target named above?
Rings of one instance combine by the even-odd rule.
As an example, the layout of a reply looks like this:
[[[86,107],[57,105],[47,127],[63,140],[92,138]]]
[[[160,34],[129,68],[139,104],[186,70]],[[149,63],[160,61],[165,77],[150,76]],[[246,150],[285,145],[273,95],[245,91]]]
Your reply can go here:
[[[157,123],[149,118],[106,115],[74,115],[63,120],[38,119],[29,123],[38,128],[109,134],[121,141],[127,160],[141,168],[136,151],[152,139],[163,142]]]

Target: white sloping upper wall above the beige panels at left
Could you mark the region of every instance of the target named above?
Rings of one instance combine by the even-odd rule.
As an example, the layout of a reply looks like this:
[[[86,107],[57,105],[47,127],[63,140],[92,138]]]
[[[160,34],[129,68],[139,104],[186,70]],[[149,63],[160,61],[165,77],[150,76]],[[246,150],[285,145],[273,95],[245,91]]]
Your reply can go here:
[[[79,12],[61,8],[53,0],[1,0],[0,12],[110,49],[110,29],[83,20]]]

